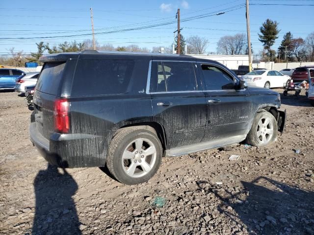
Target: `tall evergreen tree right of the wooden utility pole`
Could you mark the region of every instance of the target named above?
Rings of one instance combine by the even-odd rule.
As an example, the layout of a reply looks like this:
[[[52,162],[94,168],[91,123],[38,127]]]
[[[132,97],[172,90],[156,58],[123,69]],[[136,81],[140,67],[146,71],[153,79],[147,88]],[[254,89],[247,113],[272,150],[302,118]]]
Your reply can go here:
[[[263,43],[264,49],[267,50],[267,56],[270,60],[274,59],[274,50],[271,46],[274,45],[275,40],[278,38],[278,23],[267,19],[260,27],[261,34],[259,34],[259,40]]]

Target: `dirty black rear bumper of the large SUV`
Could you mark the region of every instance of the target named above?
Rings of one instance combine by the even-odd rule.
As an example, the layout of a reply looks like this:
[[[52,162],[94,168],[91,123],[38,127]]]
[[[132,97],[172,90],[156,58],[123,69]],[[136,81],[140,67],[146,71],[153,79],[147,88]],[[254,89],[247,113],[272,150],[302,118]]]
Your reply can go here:
[[[29,126],[29,135],[50,164],[62,168],[105,166],[105,141],[100,136],[53,133],[48,140],[37,131],[35,122]]]

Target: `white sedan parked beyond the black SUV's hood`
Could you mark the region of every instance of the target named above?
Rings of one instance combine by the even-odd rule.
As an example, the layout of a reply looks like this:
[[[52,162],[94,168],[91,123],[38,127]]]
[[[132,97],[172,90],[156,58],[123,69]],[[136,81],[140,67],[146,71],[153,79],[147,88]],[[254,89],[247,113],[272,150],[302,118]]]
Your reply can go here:
[[[275,70],[256,70],[242,76],[248,86],[254,87],[284,87],[290,79],[288,75],[284,75]]]

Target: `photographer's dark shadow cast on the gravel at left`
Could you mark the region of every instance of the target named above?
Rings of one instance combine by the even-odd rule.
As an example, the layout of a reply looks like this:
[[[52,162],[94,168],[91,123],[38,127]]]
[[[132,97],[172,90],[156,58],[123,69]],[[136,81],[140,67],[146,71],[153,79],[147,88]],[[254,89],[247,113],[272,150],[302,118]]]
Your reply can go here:
[[[72,196],[78,185],[65,169],[48,164],[34,180],[36,209],[32,234],[81,234],[78,214]]]

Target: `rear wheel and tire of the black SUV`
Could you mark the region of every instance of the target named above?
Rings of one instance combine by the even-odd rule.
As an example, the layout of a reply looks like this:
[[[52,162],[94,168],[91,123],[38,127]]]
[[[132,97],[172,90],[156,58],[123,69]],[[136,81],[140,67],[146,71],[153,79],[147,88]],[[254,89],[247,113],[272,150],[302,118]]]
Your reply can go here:
[[[151,147],[145,154],[145,148]],[[119,182],[135,185],[147,182],[156,174],[161,158],[162,147],[156,132],[136,126],[123,128],[113,137],[106,164]]]

